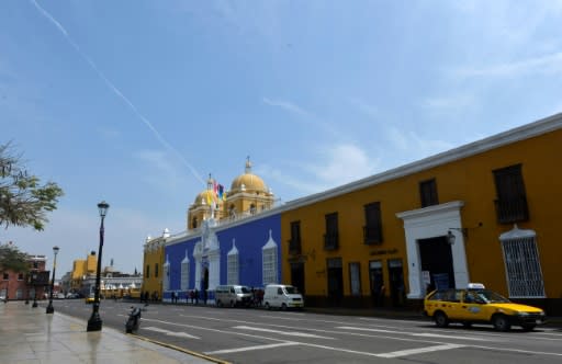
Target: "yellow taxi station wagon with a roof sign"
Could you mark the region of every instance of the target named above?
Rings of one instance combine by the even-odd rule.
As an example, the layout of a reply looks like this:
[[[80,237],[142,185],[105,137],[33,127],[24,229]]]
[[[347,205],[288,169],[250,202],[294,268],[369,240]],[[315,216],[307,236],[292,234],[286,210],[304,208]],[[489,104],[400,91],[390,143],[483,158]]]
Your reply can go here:
[[[530,331],[546,322],[542,309],[512,303],[480,283],[471,283],[464,289],[448,288],[429,293],[424,299],[424,314],[440,328],[450,322],[460,322],[464,327],[492,323],[499,331],[508,331],[512,326]]]

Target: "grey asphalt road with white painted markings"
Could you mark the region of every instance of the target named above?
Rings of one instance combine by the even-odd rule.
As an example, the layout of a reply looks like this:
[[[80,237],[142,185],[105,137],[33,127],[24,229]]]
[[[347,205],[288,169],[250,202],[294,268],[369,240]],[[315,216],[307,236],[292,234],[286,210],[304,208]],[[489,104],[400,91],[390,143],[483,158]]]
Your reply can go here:
[[[104,325],[124,332],[131,304],[103,302]],[[87,320],[91,305],[55,302],[55,309]],[[451,326],[262,309],[150,305],[138,334],[232,363],[560,363],[562,330],[496,332]]]

